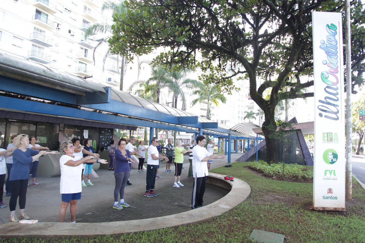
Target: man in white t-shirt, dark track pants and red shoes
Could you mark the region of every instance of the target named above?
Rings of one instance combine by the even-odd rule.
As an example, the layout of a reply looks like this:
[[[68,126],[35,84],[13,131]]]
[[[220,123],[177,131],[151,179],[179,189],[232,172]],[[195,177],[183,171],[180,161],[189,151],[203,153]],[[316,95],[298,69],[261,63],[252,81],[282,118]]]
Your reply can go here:
[[[148,157],[147,157],[145,197],[158,196],[158,194],[154,192],[158,162],[160,159],[165,159],[166,161],[169,161],[169,159],[166,156],[163,156],[160,153],[158,153],[158,150],[156,148],[157,144],[158,144],[158,139],[156,137],[153,137],[151,140],[151,145],[148,147],[147,151]]]

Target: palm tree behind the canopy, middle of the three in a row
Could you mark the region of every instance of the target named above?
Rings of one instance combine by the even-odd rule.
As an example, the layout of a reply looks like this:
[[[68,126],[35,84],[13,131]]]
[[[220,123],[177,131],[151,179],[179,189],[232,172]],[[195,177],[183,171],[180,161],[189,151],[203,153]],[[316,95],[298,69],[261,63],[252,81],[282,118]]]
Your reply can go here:
[[[182,111],[186,111],[186,99],[183,92],[183,88],[192,89],[195,85],[198,84],[198,81],[185,77],[189,74],[187,69],[181,71],[173,71],[170,72],[170,77],[172,78],[173,85],[169,86],[169,89],[173,92],[173,100],[172,107],[177,108],[177,99],[178,96],[181,95],[181,101],[183,105],[181,107]]]

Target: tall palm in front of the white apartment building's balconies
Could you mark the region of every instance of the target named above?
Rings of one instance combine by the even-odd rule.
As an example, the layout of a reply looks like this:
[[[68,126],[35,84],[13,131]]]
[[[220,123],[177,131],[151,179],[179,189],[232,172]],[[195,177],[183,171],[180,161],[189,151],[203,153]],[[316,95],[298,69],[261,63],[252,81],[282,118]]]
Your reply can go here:
[[[104,10],[112,10],[113,15],[115,14],[122,14],[122,13],[126,13],[127,12],[127,8],[124,5],[124,3],[114,3],[112,1],[106,1],[103,3],[103,6],[101,7],[101,12],[103,12]],[[95,33],[112,33],[112,29],[111,29],[111,25],[107,24],[107,23],[95,23],[92,26],[90,26],[86,31],[85,31],[85,39],[89,36],[95,35]],[[112,34],[111,34],[112,36]],[[107,36],[106,38],[101,38],[98,40],[98,44],[96,45],[96,47],[94,48],[94,52],[93,52],[93,61],[94,61],[94,65],[95,65],[95,51],[97,49],[97,47],[99,47],[102,43],[108,43],[108,39],[111,36]],[[103,58],[103,70],[104,70],[104,65],[105,65],[105,60],[107,59],[109,54],[109,49],[107,51],[107,53],[104,55]],[[122,56],[122,69],[120,70],[120,84],[119,84],[119,90],[123,90],[123,81],[124,81],[124,66],[126,64],[126,58]],[[119,59],[117,61],[117,67],[119,66]],[[119,69],[118,69],[119,71]]]

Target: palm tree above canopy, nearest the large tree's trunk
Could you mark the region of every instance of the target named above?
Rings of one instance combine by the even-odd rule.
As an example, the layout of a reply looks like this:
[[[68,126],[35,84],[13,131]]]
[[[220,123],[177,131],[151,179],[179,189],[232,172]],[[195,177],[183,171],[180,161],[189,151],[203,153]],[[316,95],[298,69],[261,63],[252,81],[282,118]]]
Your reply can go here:
[[[197,88],[193,91],[192,95],[198,95],[196,99],[194,99],[191,104],[192,106],[202,102],[207,102],[207,119],[210,119],[210,103],[215,104],[218,106],[219,101],[222,103],[226,103],[227,98],[224,97],[222,93],[220,93],[220,88],[216,85],[204,85],[203,83],[199,82],[199,85],[195,85]]]

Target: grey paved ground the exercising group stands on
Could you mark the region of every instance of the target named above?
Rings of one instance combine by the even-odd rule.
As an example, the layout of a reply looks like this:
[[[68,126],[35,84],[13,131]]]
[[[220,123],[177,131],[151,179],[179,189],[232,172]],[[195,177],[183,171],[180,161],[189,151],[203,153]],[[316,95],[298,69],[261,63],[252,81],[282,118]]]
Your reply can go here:
[[[241,155],[232,154],[231,161],[235,161]],[[227,157],[225,159],[215,159],[211,168],[226,163]],[[151,198],[143,196],[146,188],[146,173],[138,173],[136,169],[131,170],[132,185],[127,185],[124,193],[124,200],[131,207],[122,210],[112,208],[115,185],[113,171],[97,170],[96,173],[99,178],[91,179],[94,186],[82,188],[82,197],[77,203],[76,220],[80,223],[124,221],[160,217],[191,210],[193,178],[187,177],[189,169],[188,156],[184,156],[184,169],[180,180],[185,185],[184,187],[173,187],[174,173],[165,173],[165,166],[165,163],[161,164],[159,173],[162,179],[156,180],[155,184],[155,192],[159,193],[159,196]],[[174,170],[173,165],[171,170]],[[31,182],[31,178],[29,181]],[[58,211],[61,204],[59,176],[39,177],[37,181],[40,185],[30,185],[28,187],[25,212],[31,219],[38,219],[42,222],[58,222]],[[208,185],[204,194],[204,204],[210,204],[227,193],[228,190]],[[9,199],[10,197],[5,196],[4,192],[3,201],[7,207],[0,208],[0,224],[9,222]],[[18,206],[16,215],[19,215]],[[66,214],[67,220],[70,220],[69,212]]]

